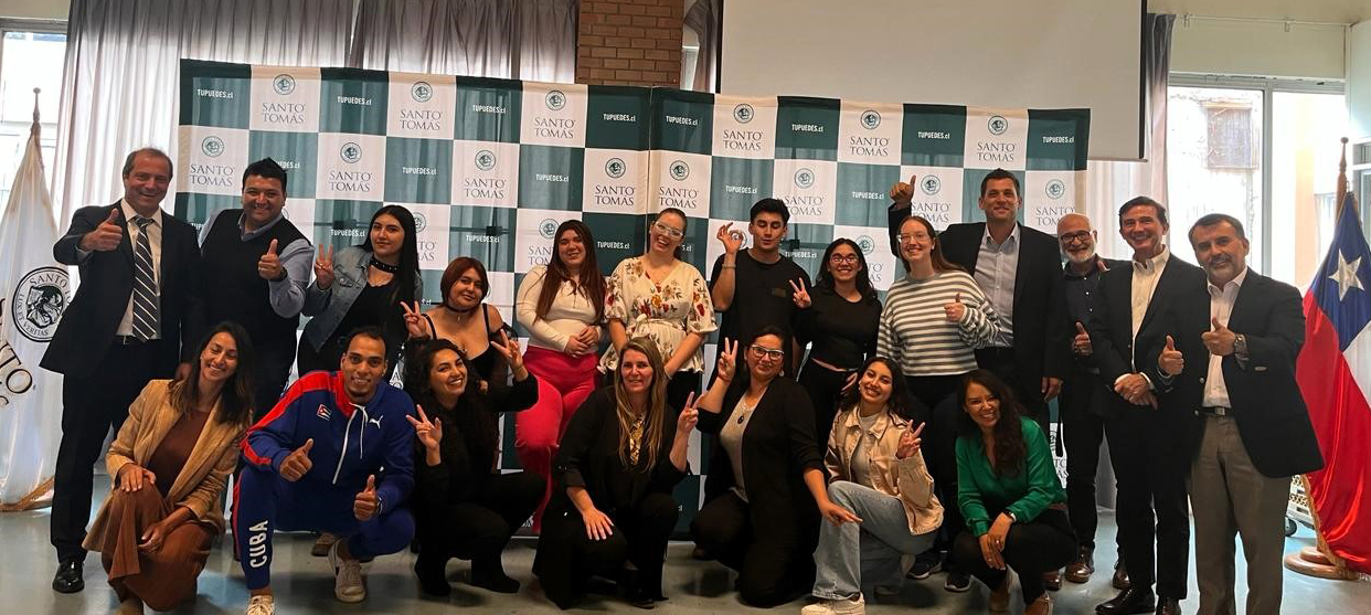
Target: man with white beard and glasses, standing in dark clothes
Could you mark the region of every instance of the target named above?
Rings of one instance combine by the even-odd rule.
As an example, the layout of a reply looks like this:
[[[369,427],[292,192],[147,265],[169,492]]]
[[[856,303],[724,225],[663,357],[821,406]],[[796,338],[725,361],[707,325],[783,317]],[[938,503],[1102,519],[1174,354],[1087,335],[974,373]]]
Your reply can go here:
[[[1126,268],[1128,261],[1101,258],[1095,254],[1095,231],[1090,227],[1090,218],[1082,214],[1063,216],[1057,222],[1057,242],[1061,243],[1061,254],[1067,264],[1063,266],[1067,297],[1067,313],[1072,323],[1071,353],[1075,361],[1065,382],[1061,383],[1061,398],[1057,413],[1057,453],[1061,453],[1063,442],[1067,446],[1067,508],[1072,529],[1080,542],[1080,552],[1076,560],[1067,566],[1067,581],[1084,583],[1095,571],[1095,471],[1100,467],[1100,443],[1105,437],[1105,420],[1101,408],[1105,399],[1100,395],[1109,394],[1109,388],[1100,380],[1100,369],[1089,364],[1090,335],[1086,334],[1086,323],[1094,309],[1095,287],[1100,284],[1100,273]],[[1123,567],[1123,557],[1115,568],[1113,586],[1126,589],[1128,586],[1128,572]]]

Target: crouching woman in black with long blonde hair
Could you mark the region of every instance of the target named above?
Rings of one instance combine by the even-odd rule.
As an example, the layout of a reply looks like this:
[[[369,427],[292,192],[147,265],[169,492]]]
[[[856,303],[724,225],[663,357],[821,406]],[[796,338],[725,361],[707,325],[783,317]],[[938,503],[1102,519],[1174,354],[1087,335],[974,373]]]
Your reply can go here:
[[[558,489],[533,560],[548,600],[572,608],[585,582],[605,574],[618,577],[636,607],[666,600],[662,563],[677,515],[672,490],[690,471],[695,416],[690,401],[679,416],[666,405],[657,345],[647,338],[624,345],[614,384],[576,410],[553,464]],[[625,561],[633,572],[620,574]]]

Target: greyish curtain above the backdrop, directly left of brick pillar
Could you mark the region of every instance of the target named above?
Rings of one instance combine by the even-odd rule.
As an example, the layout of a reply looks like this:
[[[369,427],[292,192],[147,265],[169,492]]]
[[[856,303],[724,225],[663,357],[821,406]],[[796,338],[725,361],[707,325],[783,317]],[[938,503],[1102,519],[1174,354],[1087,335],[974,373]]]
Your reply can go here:
[[[576,0],[361,0],[350,66],[576,81]]]

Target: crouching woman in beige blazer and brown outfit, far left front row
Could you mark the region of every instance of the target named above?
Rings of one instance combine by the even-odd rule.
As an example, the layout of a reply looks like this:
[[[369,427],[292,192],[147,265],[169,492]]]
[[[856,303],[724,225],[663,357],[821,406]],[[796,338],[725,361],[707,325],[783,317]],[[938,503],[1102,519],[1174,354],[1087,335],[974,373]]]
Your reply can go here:
[[[99,550],[119,614],[171,610],[195,596],[219,494],[252,417],[251,342],[222,323],[200,342],[186,380],[152,380],[106,456],[112,491],[85,548]]]

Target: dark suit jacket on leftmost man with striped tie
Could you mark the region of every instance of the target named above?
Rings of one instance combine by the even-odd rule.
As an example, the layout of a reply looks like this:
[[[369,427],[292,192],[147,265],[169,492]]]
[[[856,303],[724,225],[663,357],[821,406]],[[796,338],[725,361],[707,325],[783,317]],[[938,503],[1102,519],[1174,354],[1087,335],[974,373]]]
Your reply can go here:
[[[63,265],[78,265],[81,286],[77,297],[62,314],[58,331],[43,356],[43,368],[67,376],[85,378],[95,371],[114,343],[115,331],[133,295],[133,243],[122,224],[123,239],[111,251],[93,251],[84,261],[77,254],[81,236],[95,231],[119,202],[103,207],[81,207],[71,217],[71,227],[52,246],[52,257]],[[162,213],[160,321],[154,378],[170,378],[181,360],[182,349],[193,351],[197,340],[182,339],[193,335],[197,325],[199,294],[195,291],[195,272],[200,264],[200,247],[195,228]]]

